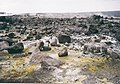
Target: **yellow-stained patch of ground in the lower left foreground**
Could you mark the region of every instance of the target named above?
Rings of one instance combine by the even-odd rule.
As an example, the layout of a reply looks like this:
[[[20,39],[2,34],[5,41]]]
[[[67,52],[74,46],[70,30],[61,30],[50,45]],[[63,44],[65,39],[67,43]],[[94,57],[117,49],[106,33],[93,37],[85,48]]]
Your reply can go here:
[[[21,57],[21,58],[10,58],[11,61],[10,66],[8,68],[3,68],[2,73],[4,73],[5,78],[19,78],[26,76],[35,70],[36,65],[24,66],[29,58]]]

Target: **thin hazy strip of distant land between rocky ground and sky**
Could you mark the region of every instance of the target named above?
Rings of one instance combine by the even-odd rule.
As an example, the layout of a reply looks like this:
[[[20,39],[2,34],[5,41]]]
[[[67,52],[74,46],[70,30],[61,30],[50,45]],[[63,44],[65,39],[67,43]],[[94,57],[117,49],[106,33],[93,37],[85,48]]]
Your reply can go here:
[[[22,13],[12,14],[0,12],[0,16],[12,16],[12,15],[32,15],[46,18],[72,18],[72,17],[87,17],[91,15],[102,15],[107,17],[120,17],[120,11],[101,11],[101,12],[79,12],[79,13]]]

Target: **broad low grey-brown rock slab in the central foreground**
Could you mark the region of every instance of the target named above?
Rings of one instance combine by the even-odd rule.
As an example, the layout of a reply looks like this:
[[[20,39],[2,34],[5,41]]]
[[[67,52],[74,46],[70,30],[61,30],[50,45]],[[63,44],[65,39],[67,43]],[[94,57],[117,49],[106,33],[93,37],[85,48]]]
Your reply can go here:
[[[59,67],[61,65],[59,59],[55,59],[52,56],[48,56],[45,53],[37,52],[31,55],[29,64],[41,64],[41,67],[48,68],[50,66]]]

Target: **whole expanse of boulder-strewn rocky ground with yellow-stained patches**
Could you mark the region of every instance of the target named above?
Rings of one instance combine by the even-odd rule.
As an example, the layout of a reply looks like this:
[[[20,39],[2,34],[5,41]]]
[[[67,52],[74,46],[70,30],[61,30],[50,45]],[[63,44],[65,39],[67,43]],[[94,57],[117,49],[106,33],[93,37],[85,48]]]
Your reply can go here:
[[[0,16],[0,82],[120,84],[120,19]]]

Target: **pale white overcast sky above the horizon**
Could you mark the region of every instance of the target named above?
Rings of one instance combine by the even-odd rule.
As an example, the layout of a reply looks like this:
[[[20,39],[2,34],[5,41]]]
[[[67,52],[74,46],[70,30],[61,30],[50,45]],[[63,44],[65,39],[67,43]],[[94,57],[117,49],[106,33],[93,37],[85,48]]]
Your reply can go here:
[[[120,10],[120,0],[0,0],[8,13],[70,13]]]

